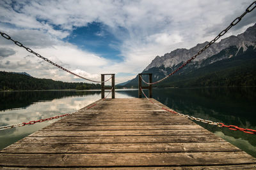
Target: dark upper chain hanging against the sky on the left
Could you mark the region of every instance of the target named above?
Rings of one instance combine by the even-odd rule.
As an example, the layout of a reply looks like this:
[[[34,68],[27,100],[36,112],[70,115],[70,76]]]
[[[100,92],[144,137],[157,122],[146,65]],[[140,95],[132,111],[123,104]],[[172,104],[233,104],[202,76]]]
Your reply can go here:
[[[80,75],[78,75],[78,74],[76,74],[76,73],[74,73],[74,72],[72,72],[72,71],[69,71],[68,69],[65,69],[64,67],[62,67],[62,66],[60,66],[60,65],[58,65],[58,64],[56,64],[56,63],[54,63],[54,62],[52,62],[51,60],[49,60],[49,59],[43,57],[43,56],[40,55],[39,53],[34,52],[34,51],[31,50],[30,48],[28,48],[28,47],[22,45],[22,43],[20,43],[19,41],[15,41],[14,39],[12,39],[8,34],[6,34],[6,33],[4,33],[4,32],[1,32],[1,31],[0,31],[0,34],[1,34],[1,36],[3,36],[3,38],[6,38],[6,39],[9,39],[9,40],[13,41],[13,43],[15,43],[15,45],[20,46],[20,47],[23,47],[23,48],[25,48],[28,52],[33,53],[34,55],[36,55],[36,57],[39,57],[39,58],[45,60],[46,62],[49,62],[49,63],[52,64],[53,66],[56,66],[56,67],[62,69],[63,71],[66,71],[67,73],[73,74],[74,76],[77,76],[77,77],[79,77],[79,78],[83,78],[84,80],[92,81],[92,82],[95,82],[95,83],[103,83],[103,82],[106,82],[106,81],[110,80],[110,79],[113,77],[113,75],[112,75],[108,80],[105,80],[105,81],[90,80],[90,79],[85,78],[85,77],[83,77],[83,76],[80,76]]]

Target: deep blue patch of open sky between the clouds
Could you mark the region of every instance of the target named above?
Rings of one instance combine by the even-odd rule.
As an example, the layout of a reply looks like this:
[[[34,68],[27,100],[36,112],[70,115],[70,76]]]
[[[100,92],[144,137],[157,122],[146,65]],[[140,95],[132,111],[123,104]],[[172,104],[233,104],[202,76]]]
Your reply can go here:
[[[116,62],[123,61],[119,50],[122,41],[117,39],[108,31],[108,27],[100,22],[92,22],[84,27],[77,27],[63,40],[78,46],[82,50],[96,53],[100,57]]]

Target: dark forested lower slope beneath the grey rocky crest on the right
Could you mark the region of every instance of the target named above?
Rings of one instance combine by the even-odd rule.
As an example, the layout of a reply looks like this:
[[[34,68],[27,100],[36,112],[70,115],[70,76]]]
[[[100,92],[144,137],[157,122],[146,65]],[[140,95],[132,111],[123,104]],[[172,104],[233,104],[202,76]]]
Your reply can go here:
[[[237,48],[230,46],[206,60],[184,67],[179,73],[170,76],[155,87],[241,87],[256,86],[256,50],[253,46],[243,52],[243,48],[237,52]],[[223,56],[232,56],[221,59]],[[220,60],[221,59],[221,60]],[[212,62],[212,60],[218,60]],[[207,64],[209,63],[209,64]],[[177,65],[179,67],[181,64]],[[175,67],[175,68],[176,68]],[[174,68],[174,69],[175,69]],[[166,69],[171,73],[174,69],[153,67],[143,73],[153,73],[153,81],[163,78],[161,70]],[[154,76],[155,75],[155,76]],[[147,80],[147,76],[144,76]],[[129,81],[125,87],[138,87],[138,76]]]

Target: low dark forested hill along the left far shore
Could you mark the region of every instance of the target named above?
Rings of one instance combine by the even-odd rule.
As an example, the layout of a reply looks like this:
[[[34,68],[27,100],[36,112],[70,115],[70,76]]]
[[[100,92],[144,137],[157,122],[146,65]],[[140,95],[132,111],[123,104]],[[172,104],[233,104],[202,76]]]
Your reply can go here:
[[[45,78],[34,78],[28,73],[0,71],[0,90],[85,90],[100,88],[100,84],[67,83]]]

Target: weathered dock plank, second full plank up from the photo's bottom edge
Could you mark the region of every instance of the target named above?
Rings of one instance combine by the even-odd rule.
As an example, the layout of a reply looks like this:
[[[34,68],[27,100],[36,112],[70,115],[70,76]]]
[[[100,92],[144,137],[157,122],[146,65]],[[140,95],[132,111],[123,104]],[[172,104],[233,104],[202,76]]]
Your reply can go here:
[[[27,144],[8,146],[0,153],[140,153],[140,152],[234,152],[228,142],[220,143],[104,143],[104,144]]]

